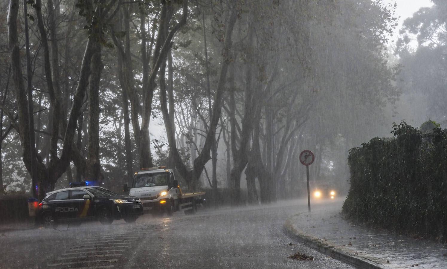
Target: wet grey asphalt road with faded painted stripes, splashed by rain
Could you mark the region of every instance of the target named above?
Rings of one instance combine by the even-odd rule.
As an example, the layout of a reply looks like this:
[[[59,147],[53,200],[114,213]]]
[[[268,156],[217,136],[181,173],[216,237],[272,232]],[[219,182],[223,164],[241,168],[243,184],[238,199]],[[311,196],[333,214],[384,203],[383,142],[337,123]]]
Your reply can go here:
[[[318,206],[324,206],[318,205]],[[1,268],[352,268],[283,234],[305,200],[0,235]],[[295,245],[290,245],[295,244]],[[295,252],[315,258],[296,261]]]

